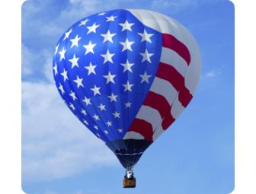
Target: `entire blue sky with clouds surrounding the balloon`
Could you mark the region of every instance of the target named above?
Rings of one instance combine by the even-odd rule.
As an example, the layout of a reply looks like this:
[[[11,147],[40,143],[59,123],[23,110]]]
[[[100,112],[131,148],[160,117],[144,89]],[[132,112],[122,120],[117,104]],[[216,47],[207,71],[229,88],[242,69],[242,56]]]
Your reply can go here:
[[[145,8],[184,24],[197,40],[196,95],[135,167],[124,170],[62,103],[53,83],[57,40],[75,21]],[[33,194],[228,193],[234,188],[234,8],[229,1],[34,1],[22,7],[22,187]]]

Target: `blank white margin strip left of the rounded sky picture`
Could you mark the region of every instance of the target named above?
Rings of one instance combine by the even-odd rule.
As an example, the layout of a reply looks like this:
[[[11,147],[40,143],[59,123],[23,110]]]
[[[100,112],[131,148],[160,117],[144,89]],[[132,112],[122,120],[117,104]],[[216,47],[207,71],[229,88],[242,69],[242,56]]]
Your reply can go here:
[[[1,1],[0,193],[21,191],[21,5]]]

